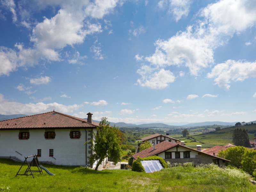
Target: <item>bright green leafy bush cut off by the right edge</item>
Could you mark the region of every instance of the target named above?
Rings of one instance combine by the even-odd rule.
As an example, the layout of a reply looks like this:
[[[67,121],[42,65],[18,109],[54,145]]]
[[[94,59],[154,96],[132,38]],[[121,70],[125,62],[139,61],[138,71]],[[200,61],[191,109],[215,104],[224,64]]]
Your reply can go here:
[[[243,155],[242,161],[243,170],[250,175],[256,170],[256,150],[247,149]]]

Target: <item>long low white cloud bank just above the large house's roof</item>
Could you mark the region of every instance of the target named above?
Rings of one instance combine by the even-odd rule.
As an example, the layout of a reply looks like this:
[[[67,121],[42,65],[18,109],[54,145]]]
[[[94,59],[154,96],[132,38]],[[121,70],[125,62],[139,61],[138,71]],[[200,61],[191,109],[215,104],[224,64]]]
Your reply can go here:
[[[49,103],[44,104],[43,102],[34,103],[19,103],[19,102],[11,102],[7,99],[4,99],[4,95],[0,93],[0,114],[3,115],[11,115],[11,114],[26,114],[26,115],[34,115],[38,113],[45,113],[49,111],[61,112],[61,113],[70,113],[74,110],[78,110],[83,107],[83,105],[62,105],[59,103]]]

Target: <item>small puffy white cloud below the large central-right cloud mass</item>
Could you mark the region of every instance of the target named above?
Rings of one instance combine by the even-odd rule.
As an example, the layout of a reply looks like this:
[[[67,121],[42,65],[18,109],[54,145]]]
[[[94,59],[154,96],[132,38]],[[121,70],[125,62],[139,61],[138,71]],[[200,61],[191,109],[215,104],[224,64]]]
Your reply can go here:
[[[153,72],[152,68],[145,65],[138,69],[137,73],[142,76],[141,79],[137,80],[140,86],[151,89],[164,89],[175,80],[175,76],[171,71],[160,69]]]

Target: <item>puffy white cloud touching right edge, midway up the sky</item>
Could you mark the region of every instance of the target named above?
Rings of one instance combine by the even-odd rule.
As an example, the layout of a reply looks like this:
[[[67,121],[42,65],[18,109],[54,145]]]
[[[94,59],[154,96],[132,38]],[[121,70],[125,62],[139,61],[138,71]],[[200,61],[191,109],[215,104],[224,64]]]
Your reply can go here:
[[[229,90],[231,81],[244,81],[245,79],[256,77],[256,61],[227,60],[225,63],[214,66],[212,72],[207,74],[207,77],[215,78],[215,84],[225,90]]]

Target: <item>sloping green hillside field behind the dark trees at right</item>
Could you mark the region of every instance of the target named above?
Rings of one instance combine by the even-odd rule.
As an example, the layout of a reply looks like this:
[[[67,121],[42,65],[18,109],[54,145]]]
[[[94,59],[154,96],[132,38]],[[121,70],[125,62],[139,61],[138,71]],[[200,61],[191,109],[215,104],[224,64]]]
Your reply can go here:
[[[230,127],[226,129],[221,129],[216,133],[208,133],[198,136],[193,136],[196,140],[210,143],[214,145],[226,145],[228,143],[232,143],[232,133],[236,128],[248,129],[248,130],[256,130],[256,125],[247,125],[247,126],[239,126],[239,127]],[[253,133],[248,133],[250,140],[254,138]]]

